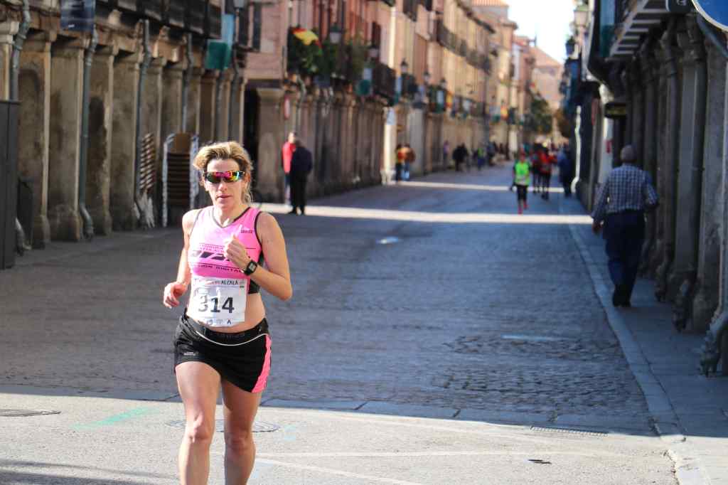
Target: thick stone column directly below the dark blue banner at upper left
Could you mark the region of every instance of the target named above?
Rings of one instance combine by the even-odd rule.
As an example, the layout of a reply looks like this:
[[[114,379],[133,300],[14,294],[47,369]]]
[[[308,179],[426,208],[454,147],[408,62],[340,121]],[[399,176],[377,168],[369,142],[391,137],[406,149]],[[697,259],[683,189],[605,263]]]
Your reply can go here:
[[[51,239],[78,241],[84,42],[55,42],[51,69],[48,222]]]

